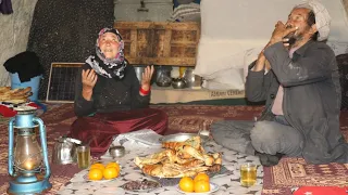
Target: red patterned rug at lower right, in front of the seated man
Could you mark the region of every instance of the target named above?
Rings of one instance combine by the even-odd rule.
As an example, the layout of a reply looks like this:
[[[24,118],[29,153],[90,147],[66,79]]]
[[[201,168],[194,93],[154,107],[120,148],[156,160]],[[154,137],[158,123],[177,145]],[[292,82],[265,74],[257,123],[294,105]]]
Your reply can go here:
[[[348,141],[348,110],[341,112],[340,130]],[[290,195],[299,186],[348,186],[348,164],[308,165],[303,158],[283,158],[263,168],[263,195]]]

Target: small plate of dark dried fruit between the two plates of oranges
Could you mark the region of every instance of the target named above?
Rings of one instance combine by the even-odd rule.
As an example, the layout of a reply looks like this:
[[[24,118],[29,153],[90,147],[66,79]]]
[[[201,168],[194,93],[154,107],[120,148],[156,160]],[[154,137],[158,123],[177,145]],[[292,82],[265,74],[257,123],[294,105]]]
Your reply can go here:
[[[161,184],[156,181],[142,180],[142,181],[129,181],[121,185],[126,192],[132,193],[148,193],[161,187]]]

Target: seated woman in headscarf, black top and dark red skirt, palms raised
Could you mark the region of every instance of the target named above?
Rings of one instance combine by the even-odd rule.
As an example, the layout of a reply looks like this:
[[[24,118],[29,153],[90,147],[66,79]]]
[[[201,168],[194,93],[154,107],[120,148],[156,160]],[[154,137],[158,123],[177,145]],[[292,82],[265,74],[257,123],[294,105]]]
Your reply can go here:
[[[146,67],[139,83],[123,49],[119,31],[103,28],[96,54],[77,74],[74,109],[78,118],[70,136],[90,143],[94,153],[105,152],[116,134],[141,129],[162,134],[167,127],[166,114],[149,108],[153,66]]]

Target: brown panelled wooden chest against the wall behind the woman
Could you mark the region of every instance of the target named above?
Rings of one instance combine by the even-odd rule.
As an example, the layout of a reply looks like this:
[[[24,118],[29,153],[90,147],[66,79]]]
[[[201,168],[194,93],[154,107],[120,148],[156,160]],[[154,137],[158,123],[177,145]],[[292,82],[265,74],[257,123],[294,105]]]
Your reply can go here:
[[[195,66],[198,23],[115,22],[130,64]]]

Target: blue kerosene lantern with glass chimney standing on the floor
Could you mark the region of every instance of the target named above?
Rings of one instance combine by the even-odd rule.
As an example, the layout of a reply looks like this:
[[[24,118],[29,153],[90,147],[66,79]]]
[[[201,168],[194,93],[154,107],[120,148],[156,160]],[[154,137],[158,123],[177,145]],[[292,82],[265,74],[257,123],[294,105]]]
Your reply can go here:
[[[10,181],[8,193],[40,194],[52,186],[49,182],[51,171],[44,121],[35,117],[35,107],[20,106],[14,109],[17,115],[9,122],[9,174],[13,179]],[[42,150],[36,140],[37,127]]]

